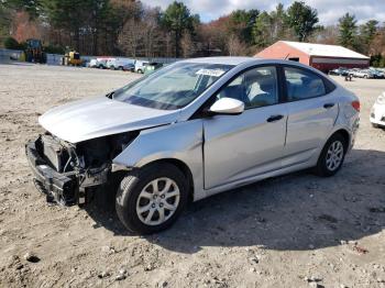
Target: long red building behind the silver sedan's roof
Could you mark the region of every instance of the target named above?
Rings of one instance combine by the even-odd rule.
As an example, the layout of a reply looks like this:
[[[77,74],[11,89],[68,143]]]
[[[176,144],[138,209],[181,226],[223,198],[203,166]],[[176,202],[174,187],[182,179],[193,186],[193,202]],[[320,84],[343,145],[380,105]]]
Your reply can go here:
[[[278,41],[257,53],[255,57],[295,60],[324,73],[339,67],[370,66],[370,57],[342,46],[290,41]]]

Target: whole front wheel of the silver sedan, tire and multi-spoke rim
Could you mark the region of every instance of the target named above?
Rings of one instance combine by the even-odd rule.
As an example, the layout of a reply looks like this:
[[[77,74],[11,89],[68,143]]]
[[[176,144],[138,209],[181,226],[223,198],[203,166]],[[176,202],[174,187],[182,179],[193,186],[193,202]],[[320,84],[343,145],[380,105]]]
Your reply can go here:
[[[169,228],[187,203],[188,185],[172,164],[155,164],[130,173],[120,184],[116,208],[127,229],[140,234]]]

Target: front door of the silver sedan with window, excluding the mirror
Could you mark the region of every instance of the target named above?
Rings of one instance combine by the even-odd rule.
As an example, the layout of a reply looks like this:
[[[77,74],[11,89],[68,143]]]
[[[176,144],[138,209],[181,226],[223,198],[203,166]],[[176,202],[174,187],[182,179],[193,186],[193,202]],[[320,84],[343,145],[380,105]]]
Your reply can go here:
[[[216,95],[245,104],[238,115],[204,119],[205,189],[274,171],[282,167],[286,137],[286,104],[279,102],[274,66],[237,76]]]

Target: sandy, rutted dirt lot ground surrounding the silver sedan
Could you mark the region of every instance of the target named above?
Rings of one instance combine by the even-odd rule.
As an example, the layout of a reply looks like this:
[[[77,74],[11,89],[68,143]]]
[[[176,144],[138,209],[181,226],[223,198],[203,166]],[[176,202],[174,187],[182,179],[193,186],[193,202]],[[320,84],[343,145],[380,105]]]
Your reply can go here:
[[[113,213],[47,204],[24,157],[41,113],[134,77],[0,65],[0,287],[385,287],[385,131],[369,122],[385,80],[344,84],[362,122],[336,177],[302,171],[229,191],[140,237]]]

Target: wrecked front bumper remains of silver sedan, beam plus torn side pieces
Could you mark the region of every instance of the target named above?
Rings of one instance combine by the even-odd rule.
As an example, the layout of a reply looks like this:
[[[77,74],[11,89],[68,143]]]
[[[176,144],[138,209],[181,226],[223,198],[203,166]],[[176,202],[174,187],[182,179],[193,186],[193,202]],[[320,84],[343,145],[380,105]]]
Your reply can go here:
[[[111,170],[108,165],[96,169],[58,173],[38,151],[41,141],[41,137],[30,141],[25,145],[25,154],[34,174],[35,186],[46,195],[47,201],[64,206],[85,204],[91,198],[89,193],[108,181]]]

